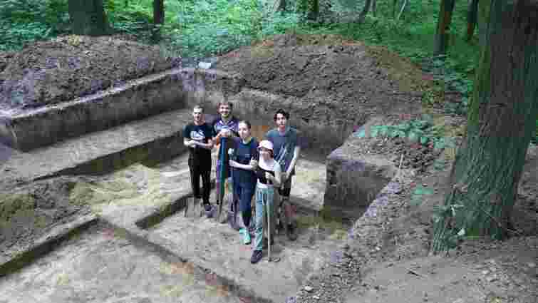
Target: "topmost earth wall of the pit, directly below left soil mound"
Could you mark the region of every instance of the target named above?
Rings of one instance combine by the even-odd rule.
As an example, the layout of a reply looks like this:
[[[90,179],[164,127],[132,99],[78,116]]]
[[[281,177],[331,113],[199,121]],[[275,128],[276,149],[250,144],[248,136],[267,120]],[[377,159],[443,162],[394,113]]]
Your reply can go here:
[[[105,130],[165,111],[200,102],[200,97],[226,98],[237,93],[242,78],[220,71],[192,77],[194,69],[175,68],[129,81],[73,101],[0,112],[0,143],[22,151],[51,145],[66,138]],[[192,101],[187,101],[187,99]]]

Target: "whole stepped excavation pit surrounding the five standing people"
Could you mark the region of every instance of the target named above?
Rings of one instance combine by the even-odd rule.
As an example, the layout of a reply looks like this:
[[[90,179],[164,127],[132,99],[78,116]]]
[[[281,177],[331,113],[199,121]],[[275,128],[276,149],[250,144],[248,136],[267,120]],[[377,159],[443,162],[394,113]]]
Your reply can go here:
[[[346,192],[345,199],[361,200],[353,212],[344,213],[346,205],[328,207],[343,198],[340,190],[326,196],[323,161],[353,129],[291,119],[306,138],[291,196],[299,237],[291,242],[278,235],[273,253],[280,262],[251,265],[252,248],[241,244],[237,232],[207,217],[182,215],[192,193],[181,129],[194,104],[212,113],[227,98],[239,118],[252,120],[259,139],[271,127],[275,108],[292,115],[297,111],[286,98],[240,83],[238,76],[221,71],[176,69],[9,117],[11,123],[4,124],[11,147],[4,145],[10,155],[2,166],[8,178],[3,180],[0,297],[9,298],[6,302],[284,302],[293,297],[312,272],[334,257],[333,248],[347,239],[352,222],[368,207],[364,199],[373,200],[395,170],[392,163],[364,159],[358,170],[340,168],[348,176],[344,186],[350,187],[353,176],[375,186]],[[92,108],[128,103],[132,91],[143,99],[155,91],[173,96],[167,91],[171,87],[174,92],[181,88],[178,96],[166,99],[179,103],[172,111],[105,130],[88,128],[93,119],[107,118]],[[227,93],[230,88],[235,94]],[[85,119],[62,120],[66,114]],[[79,128],[78,135],[66,125],[55,127],[60,121],[74,123],[70,127]],[[35,125],[41,125],[39,132],[25,131]],[[16,146],[12,139],[22,136],[9,135],[14,133],[26,135],[19,142],[43,143]],[[48,290],[40,292],[43,287]]]

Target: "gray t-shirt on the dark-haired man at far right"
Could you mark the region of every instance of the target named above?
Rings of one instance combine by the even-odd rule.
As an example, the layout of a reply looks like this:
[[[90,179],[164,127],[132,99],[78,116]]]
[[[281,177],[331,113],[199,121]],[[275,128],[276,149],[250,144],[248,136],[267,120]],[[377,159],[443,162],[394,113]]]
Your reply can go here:
[[[296,146],[302,148],[303,140],[301,132],[295,128],[287,128],[284,134],[281,134],[278,128],[274,128],[265,135],[267,140],[273,143],[274,160],[280,164],[283,172],[288,170],[291,159],[294,158],[294,150]],[[295,168],[291,171],[291,175],[295,174]]]

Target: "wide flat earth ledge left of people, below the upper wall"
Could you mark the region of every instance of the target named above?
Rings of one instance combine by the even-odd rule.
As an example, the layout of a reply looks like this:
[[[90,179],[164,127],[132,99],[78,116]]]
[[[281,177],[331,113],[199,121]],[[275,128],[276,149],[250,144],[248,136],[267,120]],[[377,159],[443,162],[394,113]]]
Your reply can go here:
[[[107,173],[141,161],[169,160],[187,151],[182,129],[191,120],[190,110],[170,111],[29,153],[15,151],[4,163],[3,175],[28,182],[55,175]]]

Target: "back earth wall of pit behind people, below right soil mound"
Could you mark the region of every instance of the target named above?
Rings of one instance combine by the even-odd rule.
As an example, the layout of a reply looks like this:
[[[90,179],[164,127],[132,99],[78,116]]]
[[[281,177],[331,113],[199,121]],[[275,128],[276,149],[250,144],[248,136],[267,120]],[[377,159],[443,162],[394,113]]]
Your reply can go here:
[[[197,86],[196,90],[192,90],[192,95],[195,97],[187,98],[187,105],[193,107],[196,104],[203,104],[206,111],[217,111],[217,105],[223,100],[228,100],[234,104],[234,115],[237,117],[249,120],[252,125],[274,125],[273,115],[279,108],[289,111],[290,125],[301,130],[304,133],[305,148],[316,149],[316,153],[329,155],[331,150],[338,148],[353,132],[355,125],[362,125],[366,122],[368,116],[366,114],[358,116],[355,120],[349,121],[335,116],[329,106],[311,106],[301,98],[293,96],[281,96],[274,93],[267,93],[255,89],[247,88],[247,84],[230,85],[231,83],[240,83],[244,81],[239,75],[228,76],[228,81],[234,90],[235,94],[228,93],[224,95],[219,90],[207,89],[204,90],[197,83],[204,82],[203,79],[212,78],[213,74],[219,75],[220,78],[226,78],[226,73],[216,70],[190,70],[185,71],[191,73],[189,77],[189,87]],[[206,81],[207,82],[207,81]],[[187,86],[187,81],[184,81],[184,86]],[[222,85],[221,85],[222,86]],[[319,118],[312,117],[315,113],[326,113]]]

